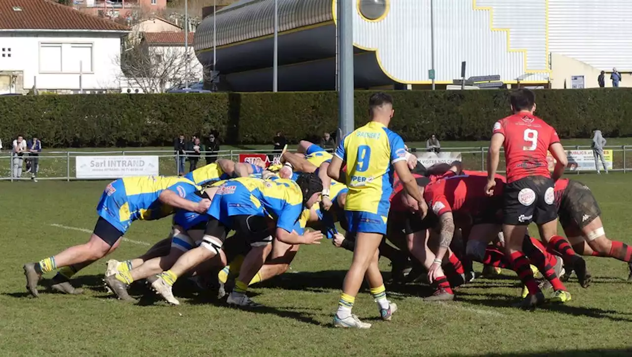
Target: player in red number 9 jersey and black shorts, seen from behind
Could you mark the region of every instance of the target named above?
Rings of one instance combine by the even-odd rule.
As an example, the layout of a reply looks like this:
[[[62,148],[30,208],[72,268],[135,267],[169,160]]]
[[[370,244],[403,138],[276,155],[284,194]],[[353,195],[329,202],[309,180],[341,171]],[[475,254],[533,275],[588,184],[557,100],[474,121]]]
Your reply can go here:
[[[556,131],[542,119],[533,115],[536,109],[535,94],[528,89],[518,89],[509,96],[513,114],[494,124],[487,157],[487,195],[494,195],[497,185],[500,149],[504,147],[507,185],[502,194],[502,233],[505,249],[513,270],[529,290],[523,300],[523,308],[535,308],[545,298],[530,269],[530,262],[523,253],[526,227],[532,221],[545,242],[557,242],[557,211],[554,206],[554,182],[564,173],[568,160]],[[551,176],[547,164],[547,150],[557,160]],[[573,266],[585,279],[586,265],[576,256]]]

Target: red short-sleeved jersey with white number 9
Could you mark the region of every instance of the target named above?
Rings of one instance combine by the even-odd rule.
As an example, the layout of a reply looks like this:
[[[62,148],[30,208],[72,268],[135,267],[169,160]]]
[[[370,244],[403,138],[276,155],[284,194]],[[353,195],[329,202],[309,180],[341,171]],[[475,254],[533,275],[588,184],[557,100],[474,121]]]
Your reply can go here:
[[[492,132],[504,136],[508,183],[527,176],[550,178],[547,152],[550,145],[559,143],[552,126],[533,114],[519,112],[497,121]]]

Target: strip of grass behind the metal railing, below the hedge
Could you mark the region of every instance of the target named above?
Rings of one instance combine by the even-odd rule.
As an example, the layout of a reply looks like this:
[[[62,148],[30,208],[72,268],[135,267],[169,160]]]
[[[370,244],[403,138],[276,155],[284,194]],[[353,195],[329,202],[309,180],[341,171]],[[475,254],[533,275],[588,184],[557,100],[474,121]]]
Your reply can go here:
[[[564,146],[566,148],[574,148],[578,145],[586,146],[590,145],[589,139],[568,139],[563,140]],[[425,148],[425,142],[411,142],[408,143],[411,148],[420,148],[423,150]],[[466,169],[474,169],[480,170],[484,169],[486,155],[483,153],[480,148],[487,148],[489,142],[487,141],[478,141],[478,142],[441,142],[444,151],[459,151],[461,152],[461,156],[463,158],[463,163]],[[611,138],[608,140],[608,145],[632,145],[632,138]],[[290,145],[292,148],[295,145]],[[241,145],[241,146],[230,146],[230,145],[222,145],[221,150],[222,153],[220,157],[224,157],[226,159],[233,159],[237,161],[239,159],[240,152],[244,152],[244,150],[270,150],[271,145]],[[464,149],[465,148],[465,149]],[[140,151],[140,150],[172,150],[171,147],[130,147],[130,148],[69,148],[69,149],[47,149],[44,150],[43,154],[40,156],[40,178],[65,178],[68,174],[68,160],[70,160],[70,177],[75,176],[75,159],[74,157],[77,154],[71,154],[70,158],[66,156],[65,152],[112,152],[110,155],[121,155],[123,152],[129,154],[129,152]],[[229,150],[233,150],[232,155]],[[55,154],[55,152],[62,152],[61,154]],[[10,177],[9,171],[9,152],[4,151],[0,153],[0,178],[8,178]],[[102,155],[102,154],[99,154]],[[105,155],[105,154],[103,154]],[[176,164],[173,156],[171,156],[171,152],[163,152],[162,154],[144,154],[144,155],[161,155],[159,158],[159,172],[162,175],[174,175],[176,174]],[[205,163],[204,159],[200,160],[198,165],[203,165]],[[623,167],[624,157],[623,151],[619,148],[618,151],[614,153],[614,167],[616,169],[620,169]],[[629,149],[629,152],[626,152],[625,158],[626,168],[632,168],[632,147]],[[186,162],[185,165],[186,172],[189,169],[189,163]],[[501,158],[501,165],[499,169],[504,169],[504,160]],[[28,175],[24,175],[23,177],[28,177]]]

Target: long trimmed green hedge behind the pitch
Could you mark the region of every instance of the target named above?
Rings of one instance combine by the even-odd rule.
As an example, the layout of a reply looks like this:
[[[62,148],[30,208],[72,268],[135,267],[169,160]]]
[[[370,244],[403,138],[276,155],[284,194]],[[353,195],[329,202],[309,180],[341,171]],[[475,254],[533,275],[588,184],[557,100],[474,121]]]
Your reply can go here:
[[[509,114],[504,90],[393,91],[391,128],[404,140],[485,140]],[[372,92],[355,95],[355,124],[366,123]],[[537,115],[562,138],[632,136],[632,91],[538,90]],[[337,127],[336,92],[27,95],[0,97],[0,137],[37,133],[46,147],[170,145],[178,133],[219,131],[225,143],[290,142]]]

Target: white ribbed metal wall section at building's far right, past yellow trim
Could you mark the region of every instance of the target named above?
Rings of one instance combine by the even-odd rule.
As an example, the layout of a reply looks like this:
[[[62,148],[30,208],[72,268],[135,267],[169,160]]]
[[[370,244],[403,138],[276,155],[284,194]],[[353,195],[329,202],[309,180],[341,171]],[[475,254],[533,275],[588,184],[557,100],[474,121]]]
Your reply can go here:
[[[549,50],[599,70],[632,70],[632,0],[549,0]]]

